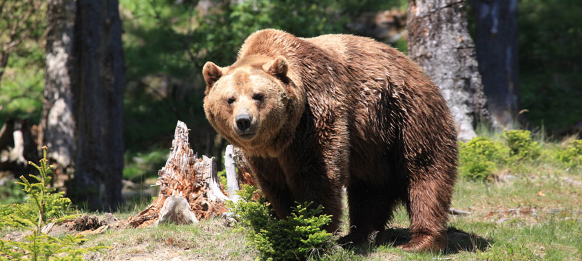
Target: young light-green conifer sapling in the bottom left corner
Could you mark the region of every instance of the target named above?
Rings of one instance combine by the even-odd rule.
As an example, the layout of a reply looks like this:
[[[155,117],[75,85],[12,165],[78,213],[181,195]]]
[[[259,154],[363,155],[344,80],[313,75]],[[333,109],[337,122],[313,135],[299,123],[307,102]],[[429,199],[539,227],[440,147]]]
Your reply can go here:
[[[59,223],[74,218],[75,215],[65,216],[70,199],[63,197],[62,192],[54,193],[55,189],[49,188],[52,166],[47,165],[46,146],[43,147],[40,166],[29,163],[39,170],[40,176],[29,175],[38,181],[36,183],[20,177],[22,182],[19,184],[24,187],[23,191],[28,196],[27,202],[20,205],[0,205],[0,227],[14,227],[29,233],[22,241],[0,240],[0,260],[83,260],[83,253],[105,248],[79,248],[79,244],[85,241],[83,236],[66,235],[56,238],[43,233],[42,229],[48,223]]]

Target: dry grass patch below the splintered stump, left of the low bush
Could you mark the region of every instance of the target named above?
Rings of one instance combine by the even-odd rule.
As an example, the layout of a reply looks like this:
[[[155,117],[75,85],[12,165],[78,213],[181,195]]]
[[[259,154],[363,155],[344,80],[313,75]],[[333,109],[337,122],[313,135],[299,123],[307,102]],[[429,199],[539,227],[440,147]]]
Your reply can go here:
[[[225,227],[225,221],[220,219],[203,220],[190,226],[160,225],[107,231],[88,239],[89,245],[108,245],[113,249],[107,251],[107,255],[87,256],[87,260],[136,257],[151,260],[252,260],[255,256],[253,249],[246,247],[245,236],[232,227]]]

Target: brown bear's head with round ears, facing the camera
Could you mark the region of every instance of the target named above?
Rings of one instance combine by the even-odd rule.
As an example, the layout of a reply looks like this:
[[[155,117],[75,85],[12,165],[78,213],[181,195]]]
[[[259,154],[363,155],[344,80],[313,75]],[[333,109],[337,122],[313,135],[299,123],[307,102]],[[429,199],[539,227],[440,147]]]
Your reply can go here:
[[[304,110],[287,59],[247,56],[229,67],[208,62],[204,110],[210,124],[248,155],[277,157],[287,148]]]

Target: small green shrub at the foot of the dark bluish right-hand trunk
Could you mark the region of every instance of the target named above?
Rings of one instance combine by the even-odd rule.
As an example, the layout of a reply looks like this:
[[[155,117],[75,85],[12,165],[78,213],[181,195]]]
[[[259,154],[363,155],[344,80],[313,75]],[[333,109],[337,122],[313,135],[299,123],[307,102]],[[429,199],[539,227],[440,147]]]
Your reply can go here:
[[[541,148],[532,140],[530,131],[503,131],[501,138],[507,142],[512,159],[535,159],[540,155]]]

